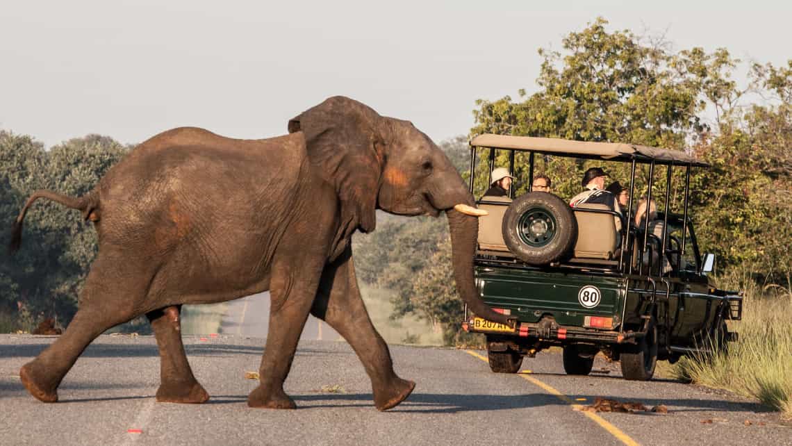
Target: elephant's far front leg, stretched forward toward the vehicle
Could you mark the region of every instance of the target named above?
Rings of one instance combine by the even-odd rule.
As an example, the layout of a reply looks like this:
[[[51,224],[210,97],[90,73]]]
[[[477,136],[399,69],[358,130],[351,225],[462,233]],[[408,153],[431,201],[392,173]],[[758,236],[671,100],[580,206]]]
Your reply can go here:
[[[311,313],[332,326],[355,350],[371,378],[378,410],[391,409],[412,393],[415,383],[396,375],[388,346],[368,317],[351,249],[325,269]]]

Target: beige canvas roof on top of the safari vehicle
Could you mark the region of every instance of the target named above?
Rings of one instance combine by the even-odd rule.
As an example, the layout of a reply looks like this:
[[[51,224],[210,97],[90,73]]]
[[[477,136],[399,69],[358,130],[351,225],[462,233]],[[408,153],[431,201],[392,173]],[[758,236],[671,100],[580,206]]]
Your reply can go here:
[[[677,164],[709,167],[683,151],[659,149],[626,143],[587,143],[558,138],[535,138],[532,136],[493,135],[485,133],[470,141],[473,147],[535,151],[544,154],[558,154],[579,158],[603,159],[606,161],[656,162],[657,164]]]

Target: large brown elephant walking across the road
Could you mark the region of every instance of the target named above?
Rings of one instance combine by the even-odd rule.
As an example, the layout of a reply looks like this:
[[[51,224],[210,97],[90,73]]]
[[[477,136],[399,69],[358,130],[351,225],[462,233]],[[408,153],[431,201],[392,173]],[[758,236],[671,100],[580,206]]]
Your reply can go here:
[[[348,97],[329,97],[289,120],[287,130],[231,139],[175,128],[139,144],[84,196],[40,190],[29,197],[13,223],[12,252],[38,198],[81,211],[99,245],[66,331],[20,370],[32,396],[56,402],[59,383],[93,339],[146,314],[160,356],[157,401],[206,402],[185,356],[181,305],[269,290],[269,332],[249,406],[295,408],[283,384],[308,314],[352,346],[375,407],[397,406],[415,383],[394,372],[352,261],[352,234],[374,231],[377,209],[444,211],[459,295],[475,314],[515,323],[476,292],[473,257],[485,212],[427,135]]]

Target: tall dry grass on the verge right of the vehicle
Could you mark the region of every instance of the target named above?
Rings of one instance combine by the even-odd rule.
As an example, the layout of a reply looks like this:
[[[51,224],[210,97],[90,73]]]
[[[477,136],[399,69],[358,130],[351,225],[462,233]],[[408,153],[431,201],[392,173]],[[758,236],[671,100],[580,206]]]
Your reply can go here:
[[[743,320],[729,322],[740,340],[711,359],[683,358],[672,368],[680,379],[757,398],[792,419],[792,292],[762,289],[729,277],[722,288],[745,291]]]

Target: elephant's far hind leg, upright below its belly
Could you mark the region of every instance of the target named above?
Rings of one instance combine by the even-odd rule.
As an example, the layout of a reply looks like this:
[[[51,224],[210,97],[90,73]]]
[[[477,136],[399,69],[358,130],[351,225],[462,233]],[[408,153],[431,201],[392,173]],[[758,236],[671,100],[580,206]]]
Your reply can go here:
[[[192,369],[181,342],[181,305],[160,308],[146,314],[154,336],[160,359],[160,386],[158,402],[207,402],[209,394],[192,375]]]

